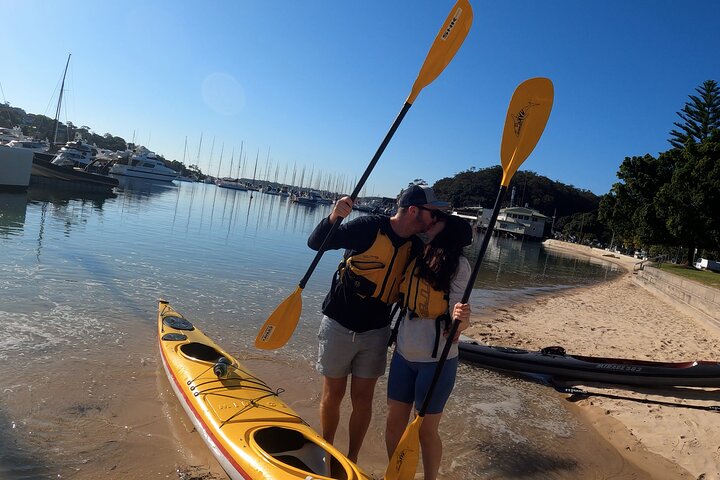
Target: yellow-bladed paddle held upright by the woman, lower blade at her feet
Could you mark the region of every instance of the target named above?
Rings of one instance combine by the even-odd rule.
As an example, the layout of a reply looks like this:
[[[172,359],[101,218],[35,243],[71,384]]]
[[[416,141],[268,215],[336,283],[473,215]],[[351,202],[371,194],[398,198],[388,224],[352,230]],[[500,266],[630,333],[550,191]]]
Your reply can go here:
[[[553,85],[547,78],[531,78],[521,83],[513,93],[508,107],[507,118],[505,119],[505,128],[503,130],[502,144],[500,147],[500,162],[503,167],[503,177],[500,183],[500,191],[495,200],[495,208],[493,208],[490,222],[480,244],[475,265],[473,266],[470,279],[468,280],[465,292],[463,293],[461,303],[467,303],[470,299],[475,278],[480,270],[480,263],[485,256],[490,238],[495,228],[495,222],[500,213],[500,205],[502,204],[505,192],[507,192],[510,180],[517,171],[518,167],[530,155],[533,148],[540,140],[548,118],[550,117],[550,109],[553,102]],[[432,398],[435,386],[440,378],[440,373],[445,365],[447,356],[450,353],[452,339],[455,337],[457,329],[460,327],[460,320],[455,319],[448,340],[445,342],[440,359],[435,367],[435,374],[430,382],[425,400],[415,419],[407,426],[403,432],[400,442],[398,442],[395,452],[393,452],[387,471],[385,472],[385,480],[412,480],[415,478],[418,460],[420,458],[420,426],[422,425],[425,412],[427,411],[430,399]]]

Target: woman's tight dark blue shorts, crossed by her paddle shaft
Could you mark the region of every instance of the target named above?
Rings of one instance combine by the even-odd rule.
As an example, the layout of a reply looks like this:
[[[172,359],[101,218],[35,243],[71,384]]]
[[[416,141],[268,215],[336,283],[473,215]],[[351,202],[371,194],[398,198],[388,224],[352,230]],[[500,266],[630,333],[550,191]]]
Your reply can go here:
[[[426,413],[442,413],[455,386],[457,365],[458,357],[445,361]],[[415,403],[415,409],[419,411],[425,402],[436,367],[437,362],[409,362],[395,351],[388,375],[388,398],[402,403]]]

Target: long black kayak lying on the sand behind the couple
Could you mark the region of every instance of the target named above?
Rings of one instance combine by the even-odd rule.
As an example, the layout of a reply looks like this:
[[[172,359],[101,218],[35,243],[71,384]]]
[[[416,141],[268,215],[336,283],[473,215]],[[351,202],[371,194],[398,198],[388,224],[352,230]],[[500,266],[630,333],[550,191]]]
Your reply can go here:
[[[653,362],[568,355],[562,347],[539,351],[460,341],[460,360],[499,370],[558,380],[648,387],[720,387],[720,362]]]

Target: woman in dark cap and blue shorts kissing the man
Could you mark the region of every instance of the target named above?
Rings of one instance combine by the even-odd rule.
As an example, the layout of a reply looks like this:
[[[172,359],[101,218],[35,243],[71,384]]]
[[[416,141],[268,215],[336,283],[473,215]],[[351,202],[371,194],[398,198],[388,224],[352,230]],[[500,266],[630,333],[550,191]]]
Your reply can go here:
[[[472,228],[459,217],[442,215],[426,235],[430,243],[408,265],[400,287],[404,310],[388,376],[385,443],[392,457],[413,404],[419,411],[425,401],[452,319],[459,319],[458,333],[450,339],[454,345],[420,427],[425,480],[435,480],[442,458],[438,427],[455,386],[457,337],[470,326],[470,305],[459,302],[470,279],[470,263],[462,249],[472,243]]]

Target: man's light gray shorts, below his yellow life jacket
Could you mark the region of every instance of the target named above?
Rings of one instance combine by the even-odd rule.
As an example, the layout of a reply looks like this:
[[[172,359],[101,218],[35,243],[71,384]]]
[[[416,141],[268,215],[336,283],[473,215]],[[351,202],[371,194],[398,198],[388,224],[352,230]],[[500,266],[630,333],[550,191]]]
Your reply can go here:
[[[379,378],[387,366],[390,326],[356,333],[332,318],[323,316],[318,340],[317,371],[326,377],[342,378],[351,373],[361,378]]]

